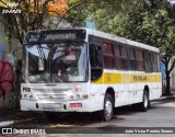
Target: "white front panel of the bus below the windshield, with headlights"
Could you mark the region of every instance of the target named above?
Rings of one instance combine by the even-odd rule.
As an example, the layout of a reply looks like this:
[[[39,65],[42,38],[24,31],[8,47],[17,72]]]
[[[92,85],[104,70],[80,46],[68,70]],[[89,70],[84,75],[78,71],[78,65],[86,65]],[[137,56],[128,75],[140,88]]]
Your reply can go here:
[[[22,83],[22,111],[92,112],[86,83]],[[83,95],[88,98],[83,99]],[[47,105],[48,104],[48,105]]]

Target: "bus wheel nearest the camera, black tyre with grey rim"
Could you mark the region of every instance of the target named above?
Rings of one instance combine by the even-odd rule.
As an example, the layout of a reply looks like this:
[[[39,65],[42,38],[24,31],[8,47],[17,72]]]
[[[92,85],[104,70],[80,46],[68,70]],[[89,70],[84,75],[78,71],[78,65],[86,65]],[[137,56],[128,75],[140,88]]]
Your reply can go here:
[[[105,95],[104,109],[100,112],[100,116],[103,121],[110,121],[113,118],[114,103],[110,94]]]

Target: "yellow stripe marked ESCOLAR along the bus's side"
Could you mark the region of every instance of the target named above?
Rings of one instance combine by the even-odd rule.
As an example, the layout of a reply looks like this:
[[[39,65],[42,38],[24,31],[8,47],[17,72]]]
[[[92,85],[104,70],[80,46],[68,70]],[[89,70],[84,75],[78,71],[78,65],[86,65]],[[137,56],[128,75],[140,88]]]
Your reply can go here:
[[[161,82],[161,75],[129,75],[129,73],[112,73],[105,72],[103,76],[92,83],[107,84],[107,83],[144,83],[144,82]]]

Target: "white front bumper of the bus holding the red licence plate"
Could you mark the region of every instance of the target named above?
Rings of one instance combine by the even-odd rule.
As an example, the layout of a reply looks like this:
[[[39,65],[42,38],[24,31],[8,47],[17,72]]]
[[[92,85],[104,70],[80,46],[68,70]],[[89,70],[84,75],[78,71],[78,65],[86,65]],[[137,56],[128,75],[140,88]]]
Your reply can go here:
[[[49,111],[49,112],[92,112],[89,100],[67,102],[40,102],[21,100],[21,111]]]

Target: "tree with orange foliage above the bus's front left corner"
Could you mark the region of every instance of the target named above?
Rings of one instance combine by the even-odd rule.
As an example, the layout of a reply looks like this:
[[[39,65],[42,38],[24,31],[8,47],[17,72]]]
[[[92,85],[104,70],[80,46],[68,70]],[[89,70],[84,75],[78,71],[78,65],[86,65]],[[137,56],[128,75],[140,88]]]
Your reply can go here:
[[[11,4],[3,1],[1,0],[3,10],[21,11],[15,14],[2,14],[3,20],[1,20],[4,26],[9,28],[9,32],[13,32],[21,45],[26,32],[48,27],[48,24],[44,24],[48,15],[61,18],[67,15],[67,0],[12,0]],[[9,33],[10,35],[12,34]]]

